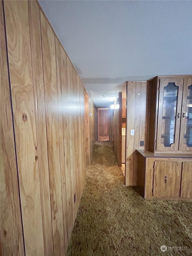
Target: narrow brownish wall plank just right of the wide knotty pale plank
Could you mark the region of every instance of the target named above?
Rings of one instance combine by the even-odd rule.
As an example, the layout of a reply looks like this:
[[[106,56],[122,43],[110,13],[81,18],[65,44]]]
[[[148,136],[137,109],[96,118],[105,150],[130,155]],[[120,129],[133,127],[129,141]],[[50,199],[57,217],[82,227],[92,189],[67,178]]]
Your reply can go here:
[[[29,1],[29,24],[32,51],[33,85],[35,96],[35,118],[37,127],[37,148],[41,188],[41,207],[45,255],[53,255],[49,166],[45,118],[43,59],[41,46],[40,8],[36,1]],[[35,17],[35,19],[33,18]],[[34,40],[35,38],[35,40]],[[38,56],[38,58],[37,58]]]

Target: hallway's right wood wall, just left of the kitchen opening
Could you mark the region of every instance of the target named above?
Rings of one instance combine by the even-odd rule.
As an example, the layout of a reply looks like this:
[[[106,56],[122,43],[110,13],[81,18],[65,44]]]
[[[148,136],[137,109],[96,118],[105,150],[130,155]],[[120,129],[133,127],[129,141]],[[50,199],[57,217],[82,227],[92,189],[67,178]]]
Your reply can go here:
[[[122,92],[119,92],[113,104],[115,109],[110,109],[110,142],[113,145],[117,164],[122,166]],[[119,105],[119,109],[116,105]]]

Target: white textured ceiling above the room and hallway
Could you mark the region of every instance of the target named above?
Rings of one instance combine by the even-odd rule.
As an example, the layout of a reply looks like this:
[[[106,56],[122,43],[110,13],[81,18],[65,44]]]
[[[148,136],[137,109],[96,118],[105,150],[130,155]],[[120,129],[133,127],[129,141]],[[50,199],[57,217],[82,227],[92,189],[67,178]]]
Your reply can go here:
[[[96,106],[125,81],[192,73],[192,1],[39,3]]]

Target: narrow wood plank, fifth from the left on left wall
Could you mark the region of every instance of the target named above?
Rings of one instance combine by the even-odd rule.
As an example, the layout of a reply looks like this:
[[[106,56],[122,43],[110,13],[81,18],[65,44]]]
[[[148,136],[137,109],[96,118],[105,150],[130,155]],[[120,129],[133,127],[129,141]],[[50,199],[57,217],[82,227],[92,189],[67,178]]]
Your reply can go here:
[[[64,224],[64,241],[65,252],[68,245],[68,223],[67,223],[67,198],[66,198],[66,180],[65,180],[65,159],[64,159],[64,131],[63,131],[63,101],[62,101],[62,84],[61,84],[61,55],[60,43],[55,36],[55,56],[57,71],[57,99],[58,99],[58,119],[59,119],[59,146],[61,162],[61,188],[63,204],[63,224]]]

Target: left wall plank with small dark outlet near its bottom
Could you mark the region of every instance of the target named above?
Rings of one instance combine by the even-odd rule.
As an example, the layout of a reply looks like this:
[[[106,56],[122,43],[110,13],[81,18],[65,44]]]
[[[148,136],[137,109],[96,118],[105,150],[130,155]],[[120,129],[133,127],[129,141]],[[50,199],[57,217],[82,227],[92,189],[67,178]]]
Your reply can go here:
[[[69,136],[70,136],[70,165],[71,165],[71,191],[73,205],[73,224],[77,214],[77,203],[74,203],[76,194],[76,163],[75,163],[75,99],[73,92],[73,66],[67,57],[67,82],[68,82],[68,97],[70,102],[69,108]]]

